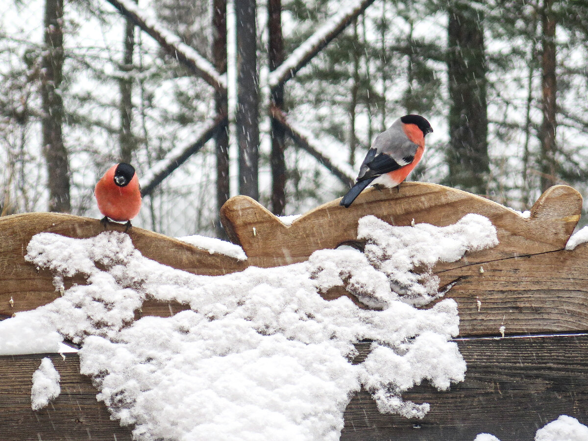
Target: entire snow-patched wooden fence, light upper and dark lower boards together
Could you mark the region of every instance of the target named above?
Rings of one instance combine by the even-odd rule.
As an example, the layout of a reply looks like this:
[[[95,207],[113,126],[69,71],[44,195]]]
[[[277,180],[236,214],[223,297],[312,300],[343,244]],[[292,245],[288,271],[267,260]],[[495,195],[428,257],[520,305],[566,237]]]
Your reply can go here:
[[[539,427],[560,415],[588,425],[588,245],[565,250],[582,208],[569,186],[547,190],[529,218],[470,193],[429,183],[405,183],[396,190],[370,189],[345,209],[322,205],[285,226],[253,199],[236,196],[221,217],[245,261],[133,228],[135,247],[153,260],[191,273],[221,275],[254,265],[264,268],[301,262],[317,249],[356,242],[358,219],[372,214],[393,225],[446,226],[466,213],[479,213],[496,226],[499,245],[438,263],[433,272],[446,297],[456,300],[460,335],[455,339],[467,363],[466,379],[448,392],[414,387],[403,397],[428,402],[422,420],[382,415],[367,392],[345,412],[341,440],[467,440],[488,432],[502,441],[533,440]],[[122,230],[123,227],[112,228]],[[102,232],[95,219],[55,213],[0,218],[0,318],[34,309],[59,296],[48,270],[25,262],[26,245],[38,232],[88,238]],[[482,268],[482,270],[480,270]],[[65,280],[65,288],[83,280]],[[346,295],[345,286],[329,298]],[[12,301],[11,301],[12,299]],[[185,309],[153,300],[142,315],[169,316]],[[500,335],[504,326],[505,337]],[[358,360],[369,343],[360,343]],[[109,418],[88,377],[79,374],[75,354],[49,355],[61,375],[61,395],[31,410],[31,376],[47,355],[0,357],[1,440],[130,440],[131,430]],[[359,362],[359,361],[358,361]]]

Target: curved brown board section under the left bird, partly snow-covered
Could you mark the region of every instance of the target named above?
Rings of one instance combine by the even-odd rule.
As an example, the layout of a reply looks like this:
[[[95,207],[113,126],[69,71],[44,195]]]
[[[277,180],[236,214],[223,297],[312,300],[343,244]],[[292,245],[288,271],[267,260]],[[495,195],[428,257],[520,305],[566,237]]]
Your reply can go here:
[[[108,229],[123,231],[124,226],[109,223]],[[24,260],[26,245],[39,232],[58,233],[75,238],[89,238],[103,232],[97,219],[59,213],[24,213],[0,218],[0,316],[35,309],[52,302],[59,295],[53,286],[53,275],[36,270]],[[133,227],[129,230],[133,245],[143,256],[194,274],[219,275],[243,270],[246,262],[219,253],[196,248],[168,236]],[[65,288],[72,283],[83,283],[81,278],[65,280]],[[12,298],[12,304],[10,299]],[[146,302],[143,313],[169,315],[169,308],[177,304]]]

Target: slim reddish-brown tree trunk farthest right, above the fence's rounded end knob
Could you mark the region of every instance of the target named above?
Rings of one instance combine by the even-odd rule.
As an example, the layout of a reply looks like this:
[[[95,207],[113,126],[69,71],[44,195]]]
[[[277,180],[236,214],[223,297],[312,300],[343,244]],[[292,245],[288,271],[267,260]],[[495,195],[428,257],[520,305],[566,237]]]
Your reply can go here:
[[[543,124],[541,126],[541,191],[546,191],[556,183],[556,47],[555,29],[556,19],[553,14],[553,0],[545,0],[542,10],[543,55],[542,68],[542,111]]]

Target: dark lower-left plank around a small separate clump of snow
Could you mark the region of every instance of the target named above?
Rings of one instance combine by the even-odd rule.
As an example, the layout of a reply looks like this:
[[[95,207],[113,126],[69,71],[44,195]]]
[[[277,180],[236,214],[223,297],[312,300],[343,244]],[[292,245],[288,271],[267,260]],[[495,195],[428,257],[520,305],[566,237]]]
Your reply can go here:
[[[61,376],[61,394],[41,410],[31,409],[32,375],[45,356]],[[110,419],[89,377],[80,375],[79,358],[67,354],[0,357],[0,439],[11,441],[130,441],[129,427]],[[7,381],[7,379],[9,381]]]

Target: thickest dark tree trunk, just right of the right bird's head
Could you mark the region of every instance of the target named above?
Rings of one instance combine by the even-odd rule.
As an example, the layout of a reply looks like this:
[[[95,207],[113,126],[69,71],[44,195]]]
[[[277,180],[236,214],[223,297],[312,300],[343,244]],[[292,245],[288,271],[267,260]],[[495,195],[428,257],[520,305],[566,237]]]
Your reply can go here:
[[[487,146],[486,56],[480,12],[465,2],[449,4],[449,185],[486,194],[490,172]]]

